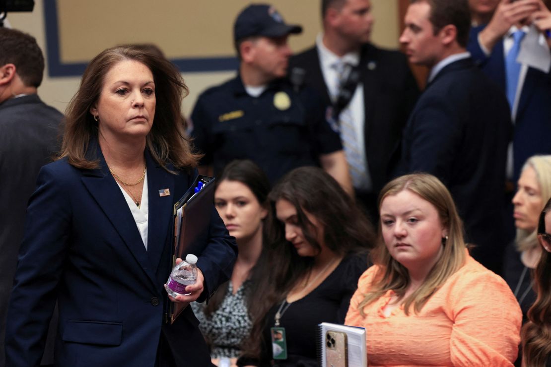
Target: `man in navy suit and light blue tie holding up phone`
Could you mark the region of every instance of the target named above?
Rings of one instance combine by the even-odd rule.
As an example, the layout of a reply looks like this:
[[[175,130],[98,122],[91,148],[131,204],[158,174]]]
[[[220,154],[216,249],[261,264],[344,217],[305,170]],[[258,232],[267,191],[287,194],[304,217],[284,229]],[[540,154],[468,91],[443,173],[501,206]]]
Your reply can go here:
[[[507,80],[506,54],[514,45],[516,31],[529,30],[526,20],[549,13],[541,0],[502,0],[488,24],[473,27],[467,50],[482,71],[503,91],[511,89],[510,106],[515,133],[512,145],[512,164],[508,178],[516,182],[524,163],[534,154],[551,154],[551,73],[527,64],[519,66],[515,85]],[[538,22],[534,21],[538,26]],[[548,47],[540,29],[542,45]],[[522,42],[526,37],[523,37]],[[549,50],[548,50],[549,51]],[[514,186],[514,185],[513,185]]]

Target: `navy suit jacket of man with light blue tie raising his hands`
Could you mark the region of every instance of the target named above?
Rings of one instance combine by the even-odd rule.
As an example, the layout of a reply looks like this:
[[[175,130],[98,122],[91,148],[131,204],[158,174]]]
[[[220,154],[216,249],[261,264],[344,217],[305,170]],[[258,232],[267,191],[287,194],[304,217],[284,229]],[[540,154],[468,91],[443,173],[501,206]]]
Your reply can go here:
[[[490,56],[480,48],[478,34],[484,25],[471,29],[467,49],[484,74],[506,88],[503,42],[499,41]],[[535,154],[551,154],[551,73],[529,67],[522,87],[515,118],[513,165],[516,182],[522,166]]]

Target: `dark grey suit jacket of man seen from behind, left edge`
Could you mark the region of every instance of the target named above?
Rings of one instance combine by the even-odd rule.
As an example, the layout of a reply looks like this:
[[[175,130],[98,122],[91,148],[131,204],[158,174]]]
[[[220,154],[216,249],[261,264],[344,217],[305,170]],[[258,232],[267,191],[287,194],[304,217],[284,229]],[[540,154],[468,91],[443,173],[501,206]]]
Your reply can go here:
[[[62,118],[36,94],[0,103],[0,366],[4,366],[6,314],[27,201],[40,167],[50,162],[57,150]],[[46,348],[49,363],[53,361],[52,352],[53,348]]]

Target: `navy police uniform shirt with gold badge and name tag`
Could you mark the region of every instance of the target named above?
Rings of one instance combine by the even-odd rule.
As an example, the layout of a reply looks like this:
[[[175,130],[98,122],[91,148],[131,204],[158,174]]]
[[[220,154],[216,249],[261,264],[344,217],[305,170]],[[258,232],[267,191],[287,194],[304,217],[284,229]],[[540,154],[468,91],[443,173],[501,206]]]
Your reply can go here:
[[[272,81],[258,97],[240,76],[199,96],[193,109],[193,143],[203,166],[219,174],[235,159],[250,159],[275,183],[291,169],[318,166],[318,157],[342,150],[316,92],[295,91],[287,79]]]

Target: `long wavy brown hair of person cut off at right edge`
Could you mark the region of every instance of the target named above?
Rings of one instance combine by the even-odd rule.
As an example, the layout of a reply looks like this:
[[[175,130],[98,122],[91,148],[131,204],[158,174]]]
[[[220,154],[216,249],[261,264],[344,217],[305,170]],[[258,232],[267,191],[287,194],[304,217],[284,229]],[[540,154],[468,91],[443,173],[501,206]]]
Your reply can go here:
[[[539,216],[538,233],[545,233],[545,215],[551,212],[551,199]],[[536,302],[528,310],[528,322],[522,327],[522,358],[527,366],[545,366],[551,357],[551,254],[542,250],[534,272]]]

